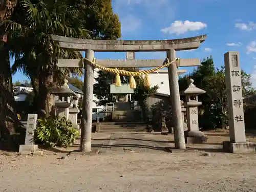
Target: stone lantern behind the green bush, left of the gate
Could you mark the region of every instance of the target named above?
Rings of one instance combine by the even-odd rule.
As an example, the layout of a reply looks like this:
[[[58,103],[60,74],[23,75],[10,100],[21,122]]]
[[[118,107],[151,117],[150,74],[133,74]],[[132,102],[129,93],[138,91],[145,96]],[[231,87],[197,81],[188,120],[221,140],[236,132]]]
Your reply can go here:
[[[63,85],[60,88],[54,89],[52,94],[59,97],[59,100],[55,100],[57,115],[69,119],[69,109],[72,104],[71,96],[75,96],[76,94],[69,89],[68,80],[65,79]]]

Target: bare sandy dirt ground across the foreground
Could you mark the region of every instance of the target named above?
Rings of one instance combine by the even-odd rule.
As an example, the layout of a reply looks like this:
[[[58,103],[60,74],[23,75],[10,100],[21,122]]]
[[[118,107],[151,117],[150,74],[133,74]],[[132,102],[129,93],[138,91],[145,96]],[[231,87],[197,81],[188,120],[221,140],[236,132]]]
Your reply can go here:
[[[256,191],[256,156],[211,153],[0,156],[0,191]]]

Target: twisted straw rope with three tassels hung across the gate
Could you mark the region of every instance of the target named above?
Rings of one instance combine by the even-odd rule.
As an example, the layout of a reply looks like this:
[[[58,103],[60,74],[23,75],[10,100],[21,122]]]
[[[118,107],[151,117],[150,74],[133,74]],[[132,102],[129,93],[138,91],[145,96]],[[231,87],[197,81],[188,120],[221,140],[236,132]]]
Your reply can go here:
[[[169,62],[169,59],[166,58],[165,61],[164,61],[165,64],[163,64],[162,66],[159,66],[159,67],[156,67],[156,68],[153,68],[153,69],[147,69],[147,70],[140,70],[140,71],[132,72],[132,71],[120,70],[120,69],[117,69],[117,68],[113,69],[113,68],[107,68],[107,67],[100,66],[96,63],[96,58],[93,58],[92,61],[90,61],[88,58],[83,58],[83,59],[89,61],[94,68],[98,68],[102,71],[115,73],[116,74],[116,77],[115,77],[115,86],[116,87],[121,86],[120,74],[125,75],[125,76],[130,76],[130,88],[131,89],[136,88],[136,81],[134,79],[134,76],[145,75],[145,77],[143,79],[144,86],[145,87],[150,87],[150,79],[148,77],[149,73],[153,73],[153,72],[156,72],[160,69],[166,68],[169,65],[171,65],[172,63],[174,63],[175,61],[176,61],[177,68],[179,67],[179,64],[180,64],[180,59],[179,58],[176,58],[175,60],[170,61],[170,62]]]

